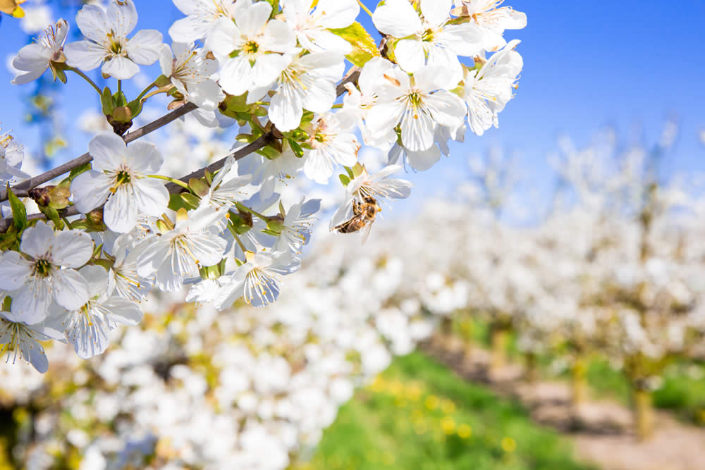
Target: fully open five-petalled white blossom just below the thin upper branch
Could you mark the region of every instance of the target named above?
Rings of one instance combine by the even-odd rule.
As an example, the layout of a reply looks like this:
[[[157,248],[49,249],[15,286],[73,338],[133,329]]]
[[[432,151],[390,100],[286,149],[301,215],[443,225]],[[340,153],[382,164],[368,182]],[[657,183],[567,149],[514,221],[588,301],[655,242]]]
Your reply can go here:
[[[71,183],[73,202],[83,214],[105,203],[103,220],[110,230],[129,232],[138,214],[159,216],[169,194],[164,183],[148,178],[157,173],[162,157],[157,146],[135,142],[129,147],[112,132],[97,135],[88,144],[93,170],[81,173]]]

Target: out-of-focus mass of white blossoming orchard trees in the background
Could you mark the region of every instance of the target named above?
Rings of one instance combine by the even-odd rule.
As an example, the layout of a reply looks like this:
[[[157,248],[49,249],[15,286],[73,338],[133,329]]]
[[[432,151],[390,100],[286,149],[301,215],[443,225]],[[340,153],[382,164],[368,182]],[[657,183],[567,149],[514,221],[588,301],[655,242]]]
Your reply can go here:
[[[685,197],[678,180],[649,189],[643,149],[614,159],[566,146],[556,170],[572,204],[516,226],[496,206],[509,210],[525,194],[496,155],[474,162],[477,178],[454,201],[387,221],[362,247],[312,226],[319,242],[267,309],[240,300],[228,314],[213,302],[195,310],[183,295],[152,292],[145,321],[112,331],[102,356],[78,361],[55,343],[57,368],[46,376],[0,369],[0,400],[41,410],[18,423],[34,430],[18,445],[23,457],[73,451],[95,469],[145,460],[286,469],[309,458],[355,387],[454,316],[507,321],[534,353],[556,337],[586,340],[617,362],[705,345],[705,286],[694,275],[705,259],[702,199]],[[446,226],[447,237],[429,230]]]

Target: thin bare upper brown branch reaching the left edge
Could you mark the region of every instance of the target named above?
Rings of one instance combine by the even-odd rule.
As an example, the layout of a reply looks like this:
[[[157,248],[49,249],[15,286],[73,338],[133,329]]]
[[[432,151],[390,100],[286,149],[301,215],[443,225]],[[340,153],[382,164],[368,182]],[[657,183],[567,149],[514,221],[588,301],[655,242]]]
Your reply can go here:
[[[171,113],[165,114],[164,116],[161,116],[161,118],[152,121],[144,127],[139,128],[133,132],[128,132],[127,134],[123,135],[123,140],[125,141],[125,144],[129,144],[130,142],[133,142],[133,140],[137,140],[140,137],[144,137],[145,135],[149,134],[149,132],[154,132],[155,130],[164,127],[164,125],[171,123],[171,121],[177,120],[181,116],[185,116],[194,109],[196,109],[196,105],[192,103],[187,103],[183,106],[180,106],[180,108],[175,109],[171,111]],[[86,163],[92,160],[93,157],[90,156],[88,152],[86,152],[85,154],[82,154],[81,156],[78,156],[77,158],[71,161],[63,163],[63,165],[59,165],[56,168],[52,168],[49,171],[45,171],[41,175],[32,177],[29,180],[25,180],[22,183],[11,187],[11,190],[17,197],[27,197],[29,195],[30,190],[32,190],[33,188],[41,185],[42,183],[47,183],[47,181],[53,180],[57,176],[61,176],[64,173],[68,173],[74,168],[78,168],[79,166],[85,165]],[[7,190],[1,189],[0,202],[6,200]]]

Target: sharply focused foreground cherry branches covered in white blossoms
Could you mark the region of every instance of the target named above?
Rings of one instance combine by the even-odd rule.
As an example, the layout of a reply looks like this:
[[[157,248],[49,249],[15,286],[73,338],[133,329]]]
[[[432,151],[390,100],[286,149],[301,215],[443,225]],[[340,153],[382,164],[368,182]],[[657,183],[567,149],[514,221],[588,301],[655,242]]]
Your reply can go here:
[[[321,209],[305,190],[285,204],[288,180],[326,184],[337,173],[331,230],[367,236],[378,202],[409,196],[411,184],[391,178],[403,164],[427,170],[467,127],[482,135],[498,125],[522,68],[519,41],[503,35],[526,24],[502,3],[386,0],[373,12],[356,0],[174,0],[185,17],[168,29],[171,44],[135,31],[133,0],[47,25],[13,58],[13,83],[75,75],[99,95],[112,132],[40,175],[24,173],[23,148],[0,137],[1,350],[39,371],[37,339],[100,354],[116,323],[140,321],[153,287],[188,286],[188,299],[217,309],[276,301]],[[68,42],[72,27],[82,39]],[[123,82],[157,62],[161,75],[128,96]],[[103,89],[87,75],[98,68]],[[128,132],[157,94],[171,99],[164,116]],[[170,152],[133,141],[188,113],[240,135],[231,154],[172,178]],[[387,152],[387,166],[370,174],[362,146]],[[25,197],[39,212],[27,214]]]

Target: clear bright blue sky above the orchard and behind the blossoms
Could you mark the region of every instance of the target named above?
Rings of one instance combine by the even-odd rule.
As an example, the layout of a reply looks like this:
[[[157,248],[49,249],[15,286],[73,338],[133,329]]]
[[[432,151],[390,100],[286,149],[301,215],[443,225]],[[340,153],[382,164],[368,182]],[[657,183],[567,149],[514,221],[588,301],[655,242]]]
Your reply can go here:
[[[376,2],[365,3],[372,8]],[[165,38],[168,26],[182,17],[169,0],[137,0],[136,4],[137,28],[161,30]],[[699,130],[705,128],[705,61],[700,49],[705,1],[508,0],[505,4],[525,11],[529,18],[525,30],[505,32],[508,39],[522,40],[517,50],[525,68],[517,96],[501,113],[501,128],[489,130],[484,137],[469,132],[465,144],[452,147],[450,158],[431,171],[409,175],[417,186],[410,203],[446,190],[466,174],[467,156],[493,145],[516,152],[518,164],[532,174],[531,184],[546,190],[552,180],[545,156],[556,149],[558,135],[570,135],[584,144],[597,130],[612,125],[625,140],[653,142],[664,120],[674,115],[681,132],[666,157],[665,170],[705,170],[705,149],[698,139]],[[364,12],[360,19],[369,25]],[[27,42],[27,35],[16,20],[6,17],[0,24],[0,39],[0,57],[5,59]],[[156,68],[144,70],[154,76],[159,73]],[[37,130],[27,128],[17,110],[32,85],[17,87],[10,84],[11,78],[6,68],[0,68],[0,122],[31,148]],[[70,80],[63,96],[68,125],[75,117],[73,106],[82,110],[97,105],[87,86],[76,77]],[[73,132],[69,136],[75,139],[67,158],[85,151],[84,137]]]

